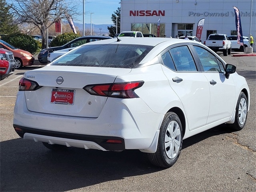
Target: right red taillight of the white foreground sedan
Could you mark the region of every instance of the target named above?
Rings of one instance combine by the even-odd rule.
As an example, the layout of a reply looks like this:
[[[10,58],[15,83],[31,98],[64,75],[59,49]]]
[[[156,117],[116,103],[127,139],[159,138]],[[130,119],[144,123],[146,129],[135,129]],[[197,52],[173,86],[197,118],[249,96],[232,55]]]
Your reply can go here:
[[[95,84],[85,86],[83,89],[92,95],[115,97],[115,98],[138,98],[134,92],[135,89],[141,87],[144,81],[125,82],[114,84]]]

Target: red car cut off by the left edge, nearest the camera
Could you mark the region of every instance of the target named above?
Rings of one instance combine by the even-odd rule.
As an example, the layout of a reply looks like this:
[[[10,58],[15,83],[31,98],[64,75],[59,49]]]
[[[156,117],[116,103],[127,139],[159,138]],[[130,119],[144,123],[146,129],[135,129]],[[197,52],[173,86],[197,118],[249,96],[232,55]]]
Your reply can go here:
[[[14,73],[15,63],[13,53],[0,48],[0,80]]]

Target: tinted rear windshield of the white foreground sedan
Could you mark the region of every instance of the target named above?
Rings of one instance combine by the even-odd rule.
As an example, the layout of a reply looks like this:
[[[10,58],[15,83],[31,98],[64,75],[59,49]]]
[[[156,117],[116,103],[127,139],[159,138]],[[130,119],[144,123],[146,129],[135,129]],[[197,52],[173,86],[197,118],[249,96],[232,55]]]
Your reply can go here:
[[[127,44],[85,45],[51,65],[134,68],[153,46]]]

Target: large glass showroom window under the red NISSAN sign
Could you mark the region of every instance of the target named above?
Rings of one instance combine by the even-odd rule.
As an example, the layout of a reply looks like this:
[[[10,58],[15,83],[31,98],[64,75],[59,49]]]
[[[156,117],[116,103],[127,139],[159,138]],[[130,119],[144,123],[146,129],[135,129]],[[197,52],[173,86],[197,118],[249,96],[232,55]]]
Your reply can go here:
[[[154,34],[157,36],[157,23],[132,23],[132,31],[141,31],[142,34]],[[159,36],[164,37],[165,24],[160,24]]]

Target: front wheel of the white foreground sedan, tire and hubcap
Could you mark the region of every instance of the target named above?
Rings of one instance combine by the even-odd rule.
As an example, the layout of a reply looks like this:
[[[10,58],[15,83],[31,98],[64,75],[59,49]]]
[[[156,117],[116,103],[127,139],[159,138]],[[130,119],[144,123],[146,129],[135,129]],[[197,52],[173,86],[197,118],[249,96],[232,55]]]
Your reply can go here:
[[[242,130],[242,128],[244,128],[247,119],[247,110],[247,97],[243,92],[241,92],[236,104],[235,122],[233,124],[229,124],[230,128],[236,131]]]

